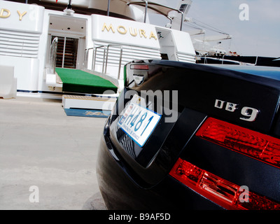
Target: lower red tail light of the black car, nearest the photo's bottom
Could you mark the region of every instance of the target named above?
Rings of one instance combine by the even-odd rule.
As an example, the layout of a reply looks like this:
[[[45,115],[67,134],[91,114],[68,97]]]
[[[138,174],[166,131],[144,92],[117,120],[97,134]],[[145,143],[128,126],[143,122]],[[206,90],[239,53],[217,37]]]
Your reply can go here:
[[[207,197],[225,209],[280,209],[280,204],[269,200],[267,197],[249,191],[244,192],[240,186],[221,179],[185,160],[181,160],[181,158],[179,158],[169,174],[189,188],[195,190],[195,192]],[[248,200],[244,200],[244,198],[248,198]]]

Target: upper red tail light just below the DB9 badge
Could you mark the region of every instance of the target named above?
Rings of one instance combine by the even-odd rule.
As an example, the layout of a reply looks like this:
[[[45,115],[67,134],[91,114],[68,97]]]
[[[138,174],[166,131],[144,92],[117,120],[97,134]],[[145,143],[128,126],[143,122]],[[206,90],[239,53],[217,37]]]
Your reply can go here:
[[[280,167],[280,139],[214,118],[208,118],[196,136]]]

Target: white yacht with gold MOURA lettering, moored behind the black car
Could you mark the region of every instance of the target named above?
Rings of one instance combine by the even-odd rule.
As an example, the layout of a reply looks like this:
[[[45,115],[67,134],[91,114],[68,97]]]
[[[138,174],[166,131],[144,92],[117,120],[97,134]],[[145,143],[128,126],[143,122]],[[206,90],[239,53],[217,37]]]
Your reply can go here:
[[[170,8],[130,0],[0,1],[0,97],[117,97],[127,62],[195,63],[190,35],[181,31],[191,3]],[[149,13],[170,22],[151,25]]]

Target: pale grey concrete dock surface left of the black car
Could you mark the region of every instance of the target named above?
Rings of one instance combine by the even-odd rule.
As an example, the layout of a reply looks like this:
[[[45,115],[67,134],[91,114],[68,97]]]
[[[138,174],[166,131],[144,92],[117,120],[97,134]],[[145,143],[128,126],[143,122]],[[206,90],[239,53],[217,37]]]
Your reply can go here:
[[[66,116],[61,100],[0,99],[0,209],[106,209],[95,173],[105,121]]]

